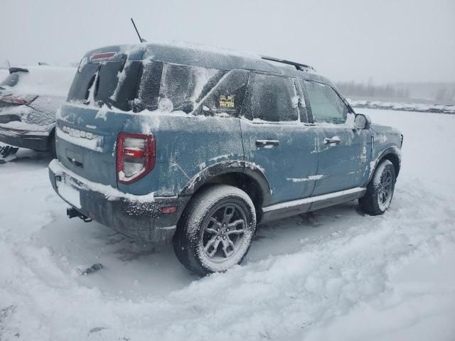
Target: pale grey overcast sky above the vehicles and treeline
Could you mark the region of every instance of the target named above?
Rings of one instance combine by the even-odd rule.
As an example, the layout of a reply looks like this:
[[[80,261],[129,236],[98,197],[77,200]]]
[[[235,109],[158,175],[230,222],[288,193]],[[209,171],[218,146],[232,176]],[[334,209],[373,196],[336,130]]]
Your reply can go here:
[[[455,81],[455,0],[1,0],[0,65],[183,40],[313,65],[332,80]]]

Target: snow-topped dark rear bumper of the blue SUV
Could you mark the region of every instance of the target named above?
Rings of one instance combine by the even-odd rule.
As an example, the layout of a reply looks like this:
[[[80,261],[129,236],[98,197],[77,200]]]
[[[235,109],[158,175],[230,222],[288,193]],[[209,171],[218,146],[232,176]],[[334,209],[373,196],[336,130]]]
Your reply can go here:
[[[49,165],[49,178],[58,195],[92,220],[134,239],[154,244],[171,242],[178,219],[181,217],[189,197],[151,197],[120,193],[111,187],[91,183],[66,169],[56,159]],[[63,180],[64,179],[64,180]],[[59,185],[77,190],[79,202],[70,202],[68,195],[59,193]],[[62,191],[63,192],[63,191]],[[177,212],[164,214],[162,207],[176,206]]]

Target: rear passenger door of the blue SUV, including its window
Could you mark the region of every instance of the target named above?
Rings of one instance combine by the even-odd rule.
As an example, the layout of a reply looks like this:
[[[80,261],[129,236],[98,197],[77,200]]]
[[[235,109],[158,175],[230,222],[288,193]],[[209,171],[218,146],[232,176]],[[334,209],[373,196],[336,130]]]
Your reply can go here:
[[[264,172],[272,202],[311,195],[316,175],[316,131],[306,126],[297,80],[252,72],[242,107],[245,161]]]

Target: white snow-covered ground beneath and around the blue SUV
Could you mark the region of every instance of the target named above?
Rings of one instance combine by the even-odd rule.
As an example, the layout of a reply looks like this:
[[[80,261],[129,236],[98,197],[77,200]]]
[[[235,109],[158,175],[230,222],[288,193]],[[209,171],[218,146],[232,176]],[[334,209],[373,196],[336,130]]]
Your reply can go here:
[[[390,210],[264,225],[201,279],[170,246],[68,220],[50,160],[21,151],[0,165],[0,340],[455,340],[455,115],[358,112],[405,135]]]

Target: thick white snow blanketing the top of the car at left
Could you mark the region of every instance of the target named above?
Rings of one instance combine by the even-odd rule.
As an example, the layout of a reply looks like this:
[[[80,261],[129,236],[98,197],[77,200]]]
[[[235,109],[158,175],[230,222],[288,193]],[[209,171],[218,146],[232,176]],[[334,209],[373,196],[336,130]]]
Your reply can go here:
[[[14,94],[67,97],[76,73],[75,67],[26,66],[28,72],[18,72],[19,81],[14,87],[5,86]]]

